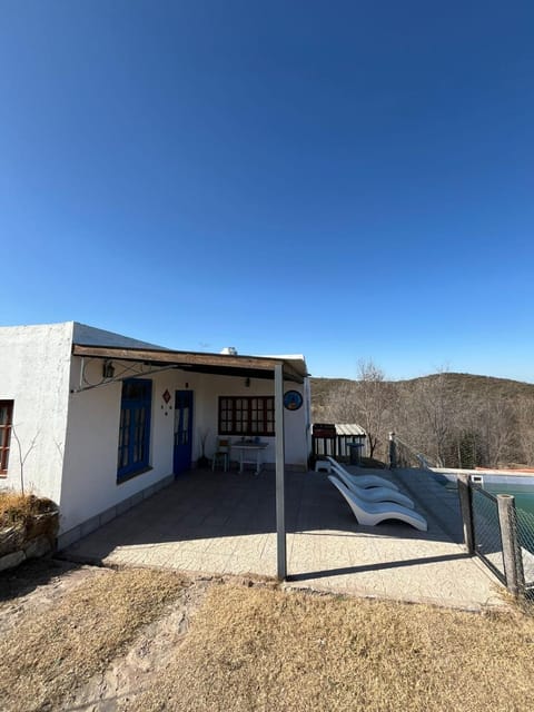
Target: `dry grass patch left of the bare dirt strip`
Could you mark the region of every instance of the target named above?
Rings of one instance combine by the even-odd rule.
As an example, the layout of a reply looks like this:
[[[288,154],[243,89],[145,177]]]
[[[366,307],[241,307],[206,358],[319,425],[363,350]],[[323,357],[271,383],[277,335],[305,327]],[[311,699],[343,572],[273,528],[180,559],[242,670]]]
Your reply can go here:
[[[53,607],[26,615],[0,641],[2,712],[57,709],[125,651],[184,585],[172,573],[100,570]]]

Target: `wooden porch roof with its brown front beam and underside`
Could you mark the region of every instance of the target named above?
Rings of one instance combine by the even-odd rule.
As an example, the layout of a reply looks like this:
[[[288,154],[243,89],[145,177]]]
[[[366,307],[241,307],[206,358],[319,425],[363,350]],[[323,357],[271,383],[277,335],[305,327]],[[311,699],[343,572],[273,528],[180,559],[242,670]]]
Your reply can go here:
[[[275,358],[264,356],[235,356],[227,354],[204,354],[150,348],[121,348],[113,346],[72,345],[75,356],[110,358],[151,364],[154,366],[176,366],[184,370],[224,376],[248,376],[250,378],[274,379],[275,366],[283,365],[284,378],[303,383],[308,375],[301,358]]]

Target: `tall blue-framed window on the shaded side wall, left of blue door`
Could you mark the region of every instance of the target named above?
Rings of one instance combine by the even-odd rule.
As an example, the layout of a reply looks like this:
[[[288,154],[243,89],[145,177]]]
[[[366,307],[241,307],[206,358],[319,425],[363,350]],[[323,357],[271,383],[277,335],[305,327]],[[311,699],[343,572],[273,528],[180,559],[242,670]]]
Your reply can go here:
[[[117,482],[129,479],[149,467],[152,382],[122,382]]]

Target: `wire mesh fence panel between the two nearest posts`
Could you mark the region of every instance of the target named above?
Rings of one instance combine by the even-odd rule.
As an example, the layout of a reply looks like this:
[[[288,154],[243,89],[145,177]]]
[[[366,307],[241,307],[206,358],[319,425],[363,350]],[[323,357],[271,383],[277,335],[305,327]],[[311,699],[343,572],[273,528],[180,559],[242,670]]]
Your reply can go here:
[[[471,493],[475,552],[501,581],[506,582],[497,498],[474,484]]]

